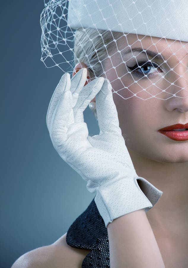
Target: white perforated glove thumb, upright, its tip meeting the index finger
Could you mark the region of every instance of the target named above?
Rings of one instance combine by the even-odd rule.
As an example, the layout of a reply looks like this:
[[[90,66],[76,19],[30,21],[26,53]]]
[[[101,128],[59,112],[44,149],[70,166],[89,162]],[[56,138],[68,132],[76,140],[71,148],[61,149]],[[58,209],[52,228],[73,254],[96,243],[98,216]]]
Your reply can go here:
[[[111,84],[105,79],[103,86],[96,96],[98,125],[101,132],[122,135],[119,127],[116,105],[113,100]]]

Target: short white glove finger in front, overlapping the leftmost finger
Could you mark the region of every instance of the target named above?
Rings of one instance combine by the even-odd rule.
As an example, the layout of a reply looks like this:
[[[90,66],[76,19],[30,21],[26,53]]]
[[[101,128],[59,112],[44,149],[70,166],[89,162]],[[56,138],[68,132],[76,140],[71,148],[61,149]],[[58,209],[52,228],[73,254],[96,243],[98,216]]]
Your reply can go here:
[[[58,106],[55,109],[50,129],[52,139],[54,141],[58,140],[60,144],[67,138],[66,133],[68,130],[68,120],[70,119],[71,110],[72,94],[70,90],[65,89],[63,95],[58,102]]]

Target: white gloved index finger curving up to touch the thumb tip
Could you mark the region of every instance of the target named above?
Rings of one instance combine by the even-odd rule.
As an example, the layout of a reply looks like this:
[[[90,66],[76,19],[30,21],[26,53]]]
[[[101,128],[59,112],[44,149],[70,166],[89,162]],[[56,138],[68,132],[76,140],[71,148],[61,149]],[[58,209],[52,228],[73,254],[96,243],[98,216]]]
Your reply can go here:
[[[86,109],[90,101],[96,96],[96,94],[101,90],[104,78],[98,77],[89,82],[80,91],[77,102],[73,107],[74,112],[74,122],[83,122],[84,115],[83,111]]]

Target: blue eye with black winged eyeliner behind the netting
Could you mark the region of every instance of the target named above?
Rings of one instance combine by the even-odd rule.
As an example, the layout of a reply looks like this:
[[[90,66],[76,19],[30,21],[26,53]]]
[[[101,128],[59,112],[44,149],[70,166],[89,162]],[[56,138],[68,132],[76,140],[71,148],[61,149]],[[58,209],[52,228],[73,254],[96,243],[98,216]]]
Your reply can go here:
[[[154,71],[156,71],[157,68],[160,69],[160,71],[162,71],[162,69],[159,67],[159,65],[157,63],[152,63],[150,61],[146,62],[140,62],[138,64],[135,64],[135,66],[133,67],[129,67],[127,66],[131,71],[133,71],[133,73],[136,73],[137,75],[144,75],[144,74],[148,74],[148,75],[152,75],[152,73]]]

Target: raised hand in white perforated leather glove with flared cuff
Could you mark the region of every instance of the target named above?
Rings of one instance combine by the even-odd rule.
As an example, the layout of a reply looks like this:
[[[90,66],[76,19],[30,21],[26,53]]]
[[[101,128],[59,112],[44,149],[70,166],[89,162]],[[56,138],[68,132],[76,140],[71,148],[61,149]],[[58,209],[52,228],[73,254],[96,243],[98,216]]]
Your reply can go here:
[[[65,73],[47,111],[47,127],[60,157],[87,181],[105,226],[114,219],[159,200],[162,191],[136,174],[119,127],[109,80],[96,78],[84,86],[87,69],[70,79]],[[83,111],[96,96],[99,135],[88,135]],[[143,191],[137,180],[141,180]]]

